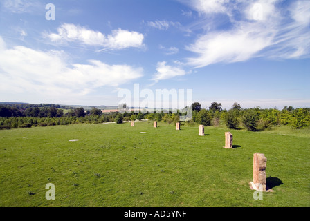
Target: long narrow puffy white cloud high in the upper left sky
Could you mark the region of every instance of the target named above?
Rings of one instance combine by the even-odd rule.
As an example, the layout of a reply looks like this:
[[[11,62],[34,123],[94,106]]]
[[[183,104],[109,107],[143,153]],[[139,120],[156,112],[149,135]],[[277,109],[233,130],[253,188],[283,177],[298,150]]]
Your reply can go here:
[[[78,42],[86,46],[102,46],[109,49],[138,48],[143,46],[143,34],[128,30],[112,30],[111,35],[89,30],[71,23],[64,23],[57,28],[57,33],[45,34],[53,42],[60,44]]]

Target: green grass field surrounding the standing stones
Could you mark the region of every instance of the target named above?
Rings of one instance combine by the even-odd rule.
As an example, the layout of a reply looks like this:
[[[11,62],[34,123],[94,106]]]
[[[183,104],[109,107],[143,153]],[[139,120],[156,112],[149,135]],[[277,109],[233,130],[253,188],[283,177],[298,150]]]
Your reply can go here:
[[[198,126],[161,122],[0,131],[0,206],[310,206],[309,129],[229,130],[233,149],[223,148],[226,131],[199,137]],[[263,200],[249,187],[256,152],[273,189]]]

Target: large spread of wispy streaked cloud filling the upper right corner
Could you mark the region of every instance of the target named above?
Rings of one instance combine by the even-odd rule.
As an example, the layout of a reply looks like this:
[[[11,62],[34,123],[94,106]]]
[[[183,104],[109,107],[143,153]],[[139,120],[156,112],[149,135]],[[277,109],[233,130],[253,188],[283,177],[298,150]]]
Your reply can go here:
[[[310,57],[310,1],[294,1],[289,7],[280,0],[192,0],[190,5],[201,15],[205,30],[186,46],[197,54],[188,58],[191,66]]]

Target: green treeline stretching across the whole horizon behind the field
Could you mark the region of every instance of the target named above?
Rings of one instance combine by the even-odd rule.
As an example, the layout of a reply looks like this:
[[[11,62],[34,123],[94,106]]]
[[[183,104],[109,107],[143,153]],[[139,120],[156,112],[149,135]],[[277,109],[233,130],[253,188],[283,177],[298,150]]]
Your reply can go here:
[[[209,108],[201,108],[199,102],[192,104],[192,119],[185,124],[203,124],[204,126],[219,126],[225,124],[228,128],[246,128],[248,131],[263,131],[273,126],[289,125],[292,128],[307,128],[310,126],[310,108],[293,108],[285,106],[262,109],[241,108],[235,102],[229,109],[222,109],[220,103],[212,102]],[[164,111],[161,113],[102,113],[98,108],[85,111],[84,108],[71,108],[64,113],[64,106],[56,104],[0,104],[0,129],[30,128],[32,126],[55,126],[68,124],[100,124],[116,122],[118,124],[129,120],[156,120],[169,124],[180,121],[179,111]],[[67,108],[67,107],[66,107]]]

